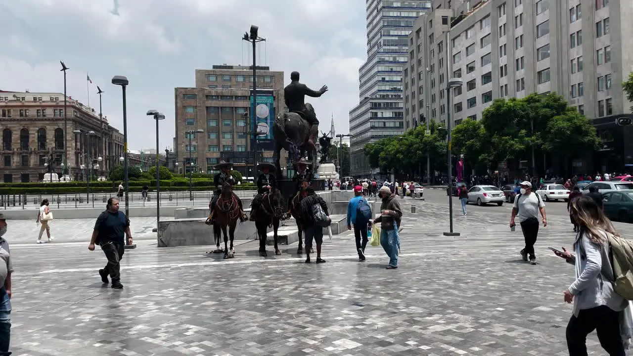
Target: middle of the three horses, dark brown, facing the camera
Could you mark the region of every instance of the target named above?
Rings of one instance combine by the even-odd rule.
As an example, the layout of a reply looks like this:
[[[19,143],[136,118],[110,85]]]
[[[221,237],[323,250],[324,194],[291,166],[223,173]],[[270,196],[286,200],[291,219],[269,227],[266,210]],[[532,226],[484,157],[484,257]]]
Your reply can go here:
[[[255,215],[255,227],[257,236],[260,238],[260,256],[266,257],[266,238],[268,236],[268,226],[273,226],[273,238],[275,239],[275,255],[281,255],[277,245],[277,230],[279,221],[285,219],[284,199],[277,188],[273,188],[269,193],[265,193],[261,198],[261,204]]]

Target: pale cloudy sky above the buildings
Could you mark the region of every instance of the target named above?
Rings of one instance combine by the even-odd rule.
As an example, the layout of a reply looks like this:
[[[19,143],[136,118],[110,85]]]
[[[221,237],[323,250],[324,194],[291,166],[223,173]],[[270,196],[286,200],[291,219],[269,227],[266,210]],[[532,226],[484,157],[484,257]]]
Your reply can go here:
[[[125,75],[130,149],[155,146],[149,109],[165,113],[160,146],[175,133],[173,88],[194,86],[194,70],[214,64],[250,65],[251,24],[266,38],[259,65],[301,72],[313,89],[322,129],[334,114],[337,132],[348,132],[348,111],[358,103],[358,67],[366,59],[363,0],[20,0],[0,1],[3,40],[0,89],[63,92],[60,60],[68,71],[68,95],[98,108],[123,130],[121,89],[110,84]],[[265,58],[264,58],[265,57]],[[265,62],[265,63],[263,63]]]

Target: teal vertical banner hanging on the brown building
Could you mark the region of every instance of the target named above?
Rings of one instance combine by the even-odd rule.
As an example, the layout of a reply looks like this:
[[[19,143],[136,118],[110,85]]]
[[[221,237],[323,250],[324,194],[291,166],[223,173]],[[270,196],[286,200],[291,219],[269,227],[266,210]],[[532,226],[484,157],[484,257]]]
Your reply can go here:
[[[259,91],[258,91],[259,92]],[[253,95],[250,97],[250,110],[253,110]],[[253,114],[251,113],[251,118]],[[251,147],[254,147],[258,140],[260,151],[272,151],[273,144],[273,123],[275,122],[275,97],[270,94],[258,94],[257,106],[255,107],[255,120],[251,120],[251,132],[258,132],[258,136],[251,137]]]

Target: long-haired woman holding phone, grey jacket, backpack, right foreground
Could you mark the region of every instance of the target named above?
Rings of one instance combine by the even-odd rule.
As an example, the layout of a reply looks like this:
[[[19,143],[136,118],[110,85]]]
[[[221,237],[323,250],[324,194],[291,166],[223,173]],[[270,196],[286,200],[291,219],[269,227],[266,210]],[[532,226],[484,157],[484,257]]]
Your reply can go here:
[[[611,221],[589,196],[571,201],[570,214],[579,227],[573,243],[575,256],[563,248],[556,253],[575,265],[576,279],[564,293],[573,302],[573,314],[567,324],[567,348],[570,356],[587,355],[587,334],[596,330],[600,345],[610,356],[625,356],[620,329],[620,314],[629,302],[613,291],[614,281],[606,233],[619,236]]]

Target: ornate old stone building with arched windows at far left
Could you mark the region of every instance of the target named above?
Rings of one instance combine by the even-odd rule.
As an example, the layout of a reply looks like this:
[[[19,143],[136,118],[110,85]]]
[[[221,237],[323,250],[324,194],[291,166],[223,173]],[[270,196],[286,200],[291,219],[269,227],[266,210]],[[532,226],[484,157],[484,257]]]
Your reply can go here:
[[[89,163],[105,175],[123,155],[123,134],[106,117],[70,97],[65,112],[64,94],[58,92],[0,91],[0,132],[3,182],[42,181],[49,171],[61,177],[62,163],[75,180]]]

